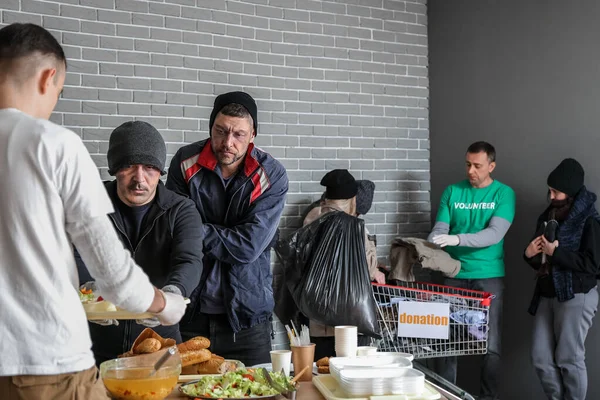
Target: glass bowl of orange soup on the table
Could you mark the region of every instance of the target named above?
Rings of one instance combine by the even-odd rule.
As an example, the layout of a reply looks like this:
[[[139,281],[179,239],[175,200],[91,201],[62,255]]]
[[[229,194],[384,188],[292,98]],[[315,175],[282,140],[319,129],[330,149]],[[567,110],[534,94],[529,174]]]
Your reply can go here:
[[[154,364],[167,349],[133,357],[117,358],[100,364],[100,376],[116,400],[163,400],[177,386],[181,358],[176,352],[152,374]]]

